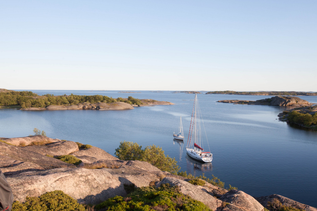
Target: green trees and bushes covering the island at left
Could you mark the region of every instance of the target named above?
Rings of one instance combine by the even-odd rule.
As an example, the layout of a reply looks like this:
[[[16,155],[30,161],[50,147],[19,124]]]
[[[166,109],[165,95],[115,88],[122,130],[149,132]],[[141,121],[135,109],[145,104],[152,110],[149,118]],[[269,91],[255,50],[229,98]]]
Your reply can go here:
[[[29,107],[45,107],[48,105],[75,105],[78,103],[113,103],[113,102],[125,102],[132,105],[141,105],[142,102],[139,99],[129,96],[125,98],[114,99],[103,95],[63,95],[54,96],[52,94],[45,94],[38,96],[36,93],[22,91],[10,91],[0,92],[0,106],[13,106],[19,105],[22,108]]]

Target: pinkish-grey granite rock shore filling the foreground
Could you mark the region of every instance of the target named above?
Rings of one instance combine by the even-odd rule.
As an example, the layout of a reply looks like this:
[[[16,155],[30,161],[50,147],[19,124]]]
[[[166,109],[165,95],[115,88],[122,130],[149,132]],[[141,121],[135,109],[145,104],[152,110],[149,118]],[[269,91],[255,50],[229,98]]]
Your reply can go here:
[[[116,201],[120,197],[127,203],[131,197],[126,195],[134,191],[134,187],[154,187],[151,190],[155,190],[163,185],[175,187],[179,194],[187,197],[187,201],[198,201],[214,211],[277,210],[273,208],[317,211],[281,195],[253,198],[243,191],[228,191],[199,179],[194,183],[193,179],[161,171],[150,163],[119,160],[100,148],[78,142],[40,135],[1,139],[0,169],[15,200],[20,202],[26,201],[26,196],[38,197],[59,190],[83,204],[98,204],[109,198]],[[72,156],[81,162],[65,163],[58,158],[62,156]],[[191,203],[198,203],[194,201]],[[18,203],[16,206],[22,205]],[[99,207],[100,204],[89,210],[99,210]],[[168,208],[161,204],[149,209],[165,210],[164,207]]]

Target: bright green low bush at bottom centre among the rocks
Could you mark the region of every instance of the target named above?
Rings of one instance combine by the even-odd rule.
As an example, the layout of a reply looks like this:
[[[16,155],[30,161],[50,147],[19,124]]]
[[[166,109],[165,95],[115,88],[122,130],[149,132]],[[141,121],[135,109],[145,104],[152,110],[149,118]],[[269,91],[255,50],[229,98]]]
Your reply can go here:
[[[115,196],[95,206],[104,210],[210,210],[200,201],[179,192],[178,186],[163,184],[159,188],[143,187],[126,198]]]

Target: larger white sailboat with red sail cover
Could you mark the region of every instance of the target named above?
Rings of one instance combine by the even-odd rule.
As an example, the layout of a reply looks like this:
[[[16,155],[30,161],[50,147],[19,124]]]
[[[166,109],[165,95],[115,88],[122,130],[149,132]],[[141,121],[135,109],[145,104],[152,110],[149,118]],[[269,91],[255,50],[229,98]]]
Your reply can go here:
[[[199,108],[199,104],[197,100],[197,94],[196,94],[195,100],[194,100],[193,112],[191,115],[191,126],[189,128],[186,151],[189,157],[198,161],[209,163],[212,161],[212,154],[210,153],[210,149],[209,149],[209,152],[205,152],[203,149],[200,119],[201,119],[201,112],[200,112],[200,108]],[[204,122],[203,122],[203,125],[204,125]],[[206,136],[206,140],[207,140],[207,136]],[[207,140],[207,144],[208,144],[208,140]],[[209,148],[209,145],[208,145],[208,148]]]

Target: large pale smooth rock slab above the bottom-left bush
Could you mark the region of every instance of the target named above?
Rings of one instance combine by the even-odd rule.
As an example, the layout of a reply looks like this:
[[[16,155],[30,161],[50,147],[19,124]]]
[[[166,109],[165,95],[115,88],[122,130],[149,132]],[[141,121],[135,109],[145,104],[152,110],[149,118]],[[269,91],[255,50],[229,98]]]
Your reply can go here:
[[[116,195],[126,194],[123,185],[102,169],[61,168],[41,172],[24,172],[8,176],[15,200],[40,196],[62,190],[79,203],[98,203]]]

